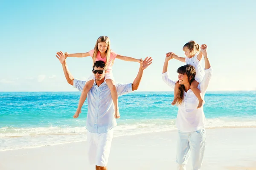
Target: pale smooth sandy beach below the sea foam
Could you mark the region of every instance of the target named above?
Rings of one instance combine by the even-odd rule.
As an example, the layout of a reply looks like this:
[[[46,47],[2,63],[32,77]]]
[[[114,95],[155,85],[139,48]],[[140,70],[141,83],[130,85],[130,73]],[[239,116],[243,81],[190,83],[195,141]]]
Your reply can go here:
[[[203,170],[256,170],[256,128],[207,129]],[[175,170],[177,130],[114,137],[109,170]],[[94,170],[87,142],[0,152],[0,170]],[[187,169],[191,169],[190,161]]]

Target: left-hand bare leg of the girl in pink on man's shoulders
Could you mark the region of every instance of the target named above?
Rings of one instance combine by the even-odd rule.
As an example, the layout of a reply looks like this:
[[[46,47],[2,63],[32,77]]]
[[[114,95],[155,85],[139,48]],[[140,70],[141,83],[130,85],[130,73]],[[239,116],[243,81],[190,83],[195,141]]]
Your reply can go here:
[[[93,87],[94,80],[87,81],[84,85],[82,94],[79,99],[78,107],[76,110],[76,113],[74,114],[73,118],[78,118],[79,114],[81,113],[81,108],[84,104],[84,101],[86,100],[87,94],[90,91],[90,89]]]

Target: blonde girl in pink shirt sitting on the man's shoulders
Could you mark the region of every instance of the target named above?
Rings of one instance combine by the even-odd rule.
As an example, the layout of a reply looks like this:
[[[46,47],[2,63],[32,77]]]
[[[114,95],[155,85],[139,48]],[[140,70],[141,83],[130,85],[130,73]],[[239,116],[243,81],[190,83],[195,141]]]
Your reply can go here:
[[[96,61],[104,61],[105,62],[105,68],[104,70],[107,70],[107,73],[105,74],[105,82],[108,85],[108,87],[111,90],[111,96],[113,99],[113,103],[115,106],[115,118],[119,119],[120,114],[119,114],[119,108],[118,108],[118,96],[117,96],[117,91],[116,91],[116,86],[112,74],[112,65],[113,62],[116,58],[122,59],[125,61],[133,61],[133,62],[142,62],[142,59],[135,59],[132,57],[126,57],[126,56],[121,56],[119,54],[116,54],[110,49],[110,39],[107,36],[100,36],[98,40],[96,41],[96,45],[93,50],[88,51],[86,53],[76,53],[76,54],[68,54],[67,52],[65,53],[66,57],[88,57],[91,56],[93,58],[93,64]],[[93,69],[94,70],[94,69]],[[96,74],[96,73],[94,73]],[[92,74],[89,79],[87,79],[87,82],[84,86],[83,92],[80,96],[79,99],[79,104],[78,108],[76,110],[75,115],[73,116],[74,118],[77,118],[79,114],[81,113],[81,108],[84,104],[84,101],[87,97],[88,92],[90,89],[93,87],[95,76]]]

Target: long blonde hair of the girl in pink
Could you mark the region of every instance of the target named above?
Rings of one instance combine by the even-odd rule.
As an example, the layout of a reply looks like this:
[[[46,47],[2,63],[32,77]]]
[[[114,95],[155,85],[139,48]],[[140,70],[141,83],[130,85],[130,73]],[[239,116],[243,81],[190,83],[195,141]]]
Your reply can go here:
[[[108,44],[108,48],[106,50],[106,62],[105,62],[105,68],[104,70],[106,70],[108,68],[108,62],[110,60],[110,53],[111,53],[111,49],[110,49],[110,39],[107,36],[100,36],[98,38],[98,40],[96,41],[95,47],[94,47],[94,53],[93,53],[93,64],[96,60],[97,54],[98,54],[98,43],[100,42],[106,42]],[[112,63],[113,64],[113,63]]]

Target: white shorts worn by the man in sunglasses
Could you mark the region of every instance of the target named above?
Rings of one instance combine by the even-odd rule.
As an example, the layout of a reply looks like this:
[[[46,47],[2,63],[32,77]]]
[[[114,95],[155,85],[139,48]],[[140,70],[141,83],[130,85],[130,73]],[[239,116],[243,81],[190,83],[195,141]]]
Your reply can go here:
[[[106,167],[113,139],[113,129],[107,133],[91,133],[87,131],[88,159],[90,164]]]

